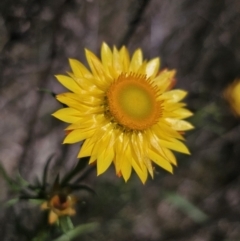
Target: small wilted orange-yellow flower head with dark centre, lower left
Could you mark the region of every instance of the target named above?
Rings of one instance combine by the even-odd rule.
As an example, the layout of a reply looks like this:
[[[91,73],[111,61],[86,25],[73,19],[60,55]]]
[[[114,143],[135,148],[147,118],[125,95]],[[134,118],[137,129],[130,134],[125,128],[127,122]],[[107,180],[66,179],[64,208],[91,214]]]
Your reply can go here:
[[[76,213],[73,209],[76,199],[71,195],[55,194],[41,205],[42,210],[49,209],[49,224],[55,223],[60,216],[72,216]]]

